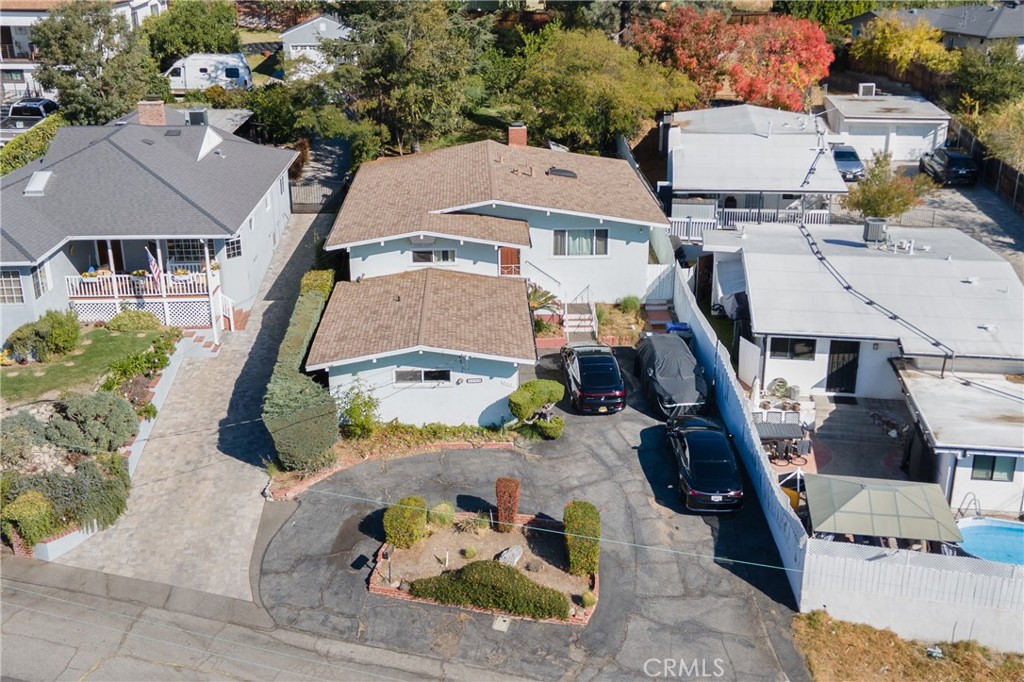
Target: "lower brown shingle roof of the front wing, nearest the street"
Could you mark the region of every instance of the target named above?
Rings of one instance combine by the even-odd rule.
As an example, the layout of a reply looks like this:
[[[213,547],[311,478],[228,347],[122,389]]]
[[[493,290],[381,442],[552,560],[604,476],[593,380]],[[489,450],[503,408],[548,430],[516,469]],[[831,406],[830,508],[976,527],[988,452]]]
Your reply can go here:
[[[306,368],[417,346],[534,363],[525,281],[428,267],[340,282]]]

